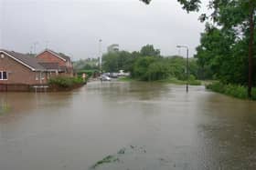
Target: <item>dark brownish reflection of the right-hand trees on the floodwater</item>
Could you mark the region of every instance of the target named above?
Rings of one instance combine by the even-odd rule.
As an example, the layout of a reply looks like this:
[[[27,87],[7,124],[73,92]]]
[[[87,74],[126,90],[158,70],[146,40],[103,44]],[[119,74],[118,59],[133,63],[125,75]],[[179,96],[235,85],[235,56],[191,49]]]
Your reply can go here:
[[[255,169],[255,103],[218,94],[203,101],[200,107],[207,112],[201,114],[212,117],[201,116],[199,125],[210,164],[221,169]]]

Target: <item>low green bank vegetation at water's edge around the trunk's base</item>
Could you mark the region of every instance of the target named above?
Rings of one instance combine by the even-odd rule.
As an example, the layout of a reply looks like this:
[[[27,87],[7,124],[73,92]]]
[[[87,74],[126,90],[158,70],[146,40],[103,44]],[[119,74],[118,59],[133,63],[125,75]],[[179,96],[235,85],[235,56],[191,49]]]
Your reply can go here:
[[[206,87],[214,92],[225,95],[234,96],[241,99],[248,99],[247,86],[244,85],[225,85],[220,82],[206,85]],[[256,100],[256,88],[252,88],[252,100]]]

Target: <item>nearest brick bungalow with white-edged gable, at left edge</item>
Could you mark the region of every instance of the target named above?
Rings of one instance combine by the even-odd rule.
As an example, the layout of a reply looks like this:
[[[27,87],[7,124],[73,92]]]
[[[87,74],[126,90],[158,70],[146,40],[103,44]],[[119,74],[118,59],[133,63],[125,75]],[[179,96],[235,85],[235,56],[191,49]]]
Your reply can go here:
[[[0,84],[44,85],[58,74],[58,65],[40,65],[33,56],[0,49]]]

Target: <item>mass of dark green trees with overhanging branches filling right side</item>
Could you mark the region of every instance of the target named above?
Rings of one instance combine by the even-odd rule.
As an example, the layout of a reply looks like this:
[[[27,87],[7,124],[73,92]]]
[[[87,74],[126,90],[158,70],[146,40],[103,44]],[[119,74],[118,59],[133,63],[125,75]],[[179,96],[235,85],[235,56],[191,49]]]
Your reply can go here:
[[[142,0],[149,4],[151,0]],[[198,11],[201,0],[177,0],[187,12]],[[197,47],[197,62],[202,78],[216,78],[223,84],[256,85],[256,1],[209,0],[206,31]]]

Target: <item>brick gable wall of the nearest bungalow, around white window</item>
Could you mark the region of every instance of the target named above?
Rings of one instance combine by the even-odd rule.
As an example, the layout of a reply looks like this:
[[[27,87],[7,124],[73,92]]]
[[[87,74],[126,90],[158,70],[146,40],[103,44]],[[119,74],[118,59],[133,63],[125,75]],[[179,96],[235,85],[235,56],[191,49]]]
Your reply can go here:
[[[8,55],[5,55],[4,58],[0,58],[0,71],[7,72],[7,80],[0,80],[0,84],[27,84],[27,85],[37,85],[37,84],[46,84],[47,83],[47,74],[45,75],[44,80],[36,80],[36,75],[38,72],[33,72],[27,66],[22,65],[16,60],[12,59]]]

